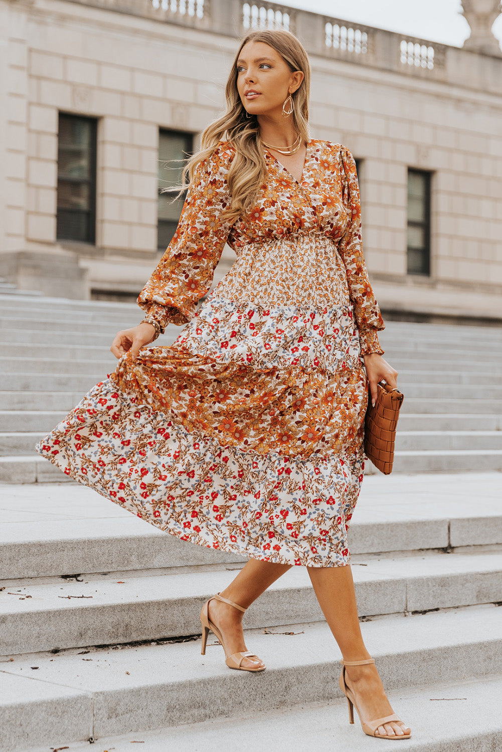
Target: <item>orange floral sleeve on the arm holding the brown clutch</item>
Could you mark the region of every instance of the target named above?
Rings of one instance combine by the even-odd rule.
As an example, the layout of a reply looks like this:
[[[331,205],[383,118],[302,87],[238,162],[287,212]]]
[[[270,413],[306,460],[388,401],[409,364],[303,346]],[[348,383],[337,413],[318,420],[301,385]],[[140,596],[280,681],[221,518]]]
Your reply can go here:
[[[385,329],[379,305],[373,295],[363,256],[361,228],[361,199],[357,183],[354,157],[344,146],[340,148],[339,168],[342,179],[342,198],[348,216],[345,234],[339,241],[338,251],[347,271],[348,293],[354,304],[354,317],[359,329],[361,354],[380,353],[377,332]]]

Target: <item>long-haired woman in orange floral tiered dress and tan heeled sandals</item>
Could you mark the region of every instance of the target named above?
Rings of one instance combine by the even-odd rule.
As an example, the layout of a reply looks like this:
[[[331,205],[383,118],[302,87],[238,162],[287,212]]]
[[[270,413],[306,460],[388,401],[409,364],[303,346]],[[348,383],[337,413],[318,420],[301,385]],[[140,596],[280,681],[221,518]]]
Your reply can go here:
[[[201,613],[227,665],[263,671],[242,613],[306,566],[364,731],[409,738],[357,618],[347,529],[364,471],[367,386],[396,386],[361,246],[354,159],[309,138],[309,61],[284,31],[242,42],[227,113],[190,159],[175,236],[118,332],[120,359],[38,444],[72,478],[161,529],[249,560]],[[225,242],[237,260],[211,287]],[[171,347],[151,344],[187,324]],[[141,350],[141,352],[140,352]],[[353,722],[353,720],[351,720]]]

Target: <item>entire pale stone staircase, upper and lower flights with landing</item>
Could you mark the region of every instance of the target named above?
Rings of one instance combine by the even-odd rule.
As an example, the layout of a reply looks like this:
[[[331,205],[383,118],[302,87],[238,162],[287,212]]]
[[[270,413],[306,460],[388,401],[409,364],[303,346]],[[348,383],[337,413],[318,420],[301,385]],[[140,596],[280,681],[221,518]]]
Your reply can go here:
[[[348,724],[339,650],[305,569],[245,615],[266,672],[232,672],[213,635],[200,656],[198,616],[244,559],[54,482],[65,476],[33,453],[137,321],[134,305],[0,294],[2,752],[381,745]],[[409,750],[502,748],[501,340],[400,322],[382,334],[405,394],[398,450],[391,475],[365,478],[349,540],[364,638],[412,726]]]

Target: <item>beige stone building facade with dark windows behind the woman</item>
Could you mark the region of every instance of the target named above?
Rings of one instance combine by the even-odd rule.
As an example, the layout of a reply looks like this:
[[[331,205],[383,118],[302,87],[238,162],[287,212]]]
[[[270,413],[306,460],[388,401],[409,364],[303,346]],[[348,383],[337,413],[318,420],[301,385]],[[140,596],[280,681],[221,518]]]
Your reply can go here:
[[[159,196],[160,159],[196,147],[239,37],[260,26],[303,41],[312,136],[357,160],[382,312],[500,323],[500,48],[264,0],[0,0],[0,277],[133,299],[179,211]]]

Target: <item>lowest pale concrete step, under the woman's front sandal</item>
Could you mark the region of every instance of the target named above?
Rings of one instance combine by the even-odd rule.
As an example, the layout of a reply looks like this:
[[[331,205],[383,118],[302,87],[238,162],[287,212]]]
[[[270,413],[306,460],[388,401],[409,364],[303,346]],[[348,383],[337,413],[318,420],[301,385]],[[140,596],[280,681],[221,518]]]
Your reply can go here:
[[[500,747],[502,676],[394,690],[391,705],[412,729],[406,750],[412,752],[494,752]],[[277,710],[248,711],[231,718],[132,732],[96,739],[96,752],[130,752],[131,744],[145,744],[145,752],[320,752],[346,750],[367,752],[367,735],[354,711],[354,726],[348,723],[345,698],[323,702],[284,705]],[[62,744],[62,739],[56,736]],[[374,742],[376,744],[376,742]],[[46,752],[44,747],[43,752]],[[34,752],[42,752],[39,747]],[[68,752],[89,752],[89,743],[71,744]]]

